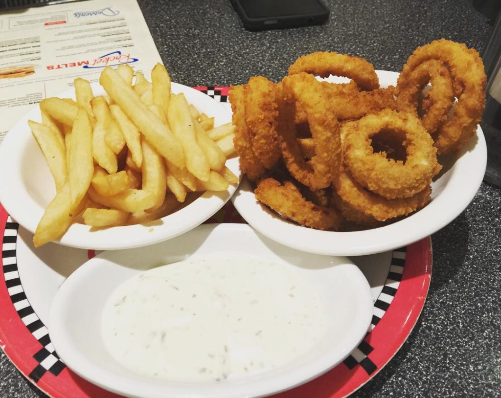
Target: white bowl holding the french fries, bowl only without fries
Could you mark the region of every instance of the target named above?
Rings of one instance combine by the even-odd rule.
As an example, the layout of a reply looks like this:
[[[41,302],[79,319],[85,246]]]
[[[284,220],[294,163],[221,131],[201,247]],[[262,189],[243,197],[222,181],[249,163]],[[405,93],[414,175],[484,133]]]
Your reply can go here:
[[[92,88],[95,96],[106,94],[97,83],[93,83]],[[193,104],[200,113],[214,117],[215,126],[231,122],[231,114],[227,110],[198,90],[172,83],[172,92],[183,93],[188,103]],[[74,90],[68,90],[59,97],[74,99]],[[35,233],[56,190],[42,151],[28,127],[30,119],[41,122],[38,106],[13,127],[0,146],[0,202],[12,218]],[[240,176],[237,158],[228,159],[226,166]],[[223,192],[204,192],[187,206],[150,223],[104,229],[92,229],[88,225],[75,223],[55,242],[100,250],[126,249],[161,242],[189,231],[210,218],[229,200],[236,186],[230,185]]]

